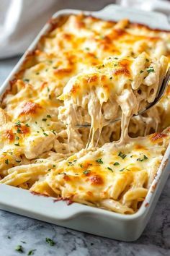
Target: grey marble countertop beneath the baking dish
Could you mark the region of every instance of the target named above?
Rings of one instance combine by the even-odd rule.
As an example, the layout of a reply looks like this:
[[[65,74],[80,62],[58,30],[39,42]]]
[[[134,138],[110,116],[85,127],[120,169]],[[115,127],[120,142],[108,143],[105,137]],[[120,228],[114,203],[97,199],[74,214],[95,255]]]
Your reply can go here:
[[[0,85],[18,58],[0,61]],[[118,242],[71,229],[65,229],[32,218],[0,210],[0,255],[27,255],[36,249],[35,256],[168,256],[170,255],[170,179],[158,201],[143,235],[136,242]],[[45,242],[49,237],[54,246]],[[21,244],[23,253],[15,251]]]

